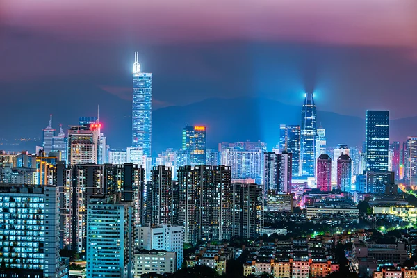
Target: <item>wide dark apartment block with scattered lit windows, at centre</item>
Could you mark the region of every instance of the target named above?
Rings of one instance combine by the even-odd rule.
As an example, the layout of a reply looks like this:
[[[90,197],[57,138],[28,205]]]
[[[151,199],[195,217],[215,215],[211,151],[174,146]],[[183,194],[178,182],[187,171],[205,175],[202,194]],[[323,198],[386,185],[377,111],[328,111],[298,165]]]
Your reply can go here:
[[[230,180],[227,166],[179,167],[175,202],[186,243],[230,238]]]

